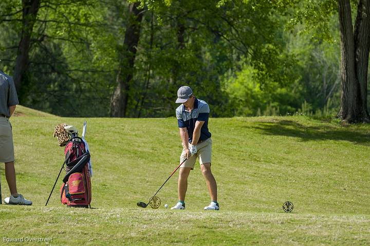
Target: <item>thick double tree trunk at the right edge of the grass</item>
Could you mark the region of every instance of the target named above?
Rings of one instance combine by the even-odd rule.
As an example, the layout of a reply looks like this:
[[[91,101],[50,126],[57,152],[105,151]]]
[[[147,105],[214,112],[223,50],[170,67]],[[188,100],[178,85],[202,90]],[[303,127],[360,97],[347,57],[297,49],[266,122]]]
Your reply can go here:
[[[350,1],[338,0],[342,74],[341,109],[338,117],[348,123],[369,122],[366,105],[369,1],[359,1],[354,34]]]

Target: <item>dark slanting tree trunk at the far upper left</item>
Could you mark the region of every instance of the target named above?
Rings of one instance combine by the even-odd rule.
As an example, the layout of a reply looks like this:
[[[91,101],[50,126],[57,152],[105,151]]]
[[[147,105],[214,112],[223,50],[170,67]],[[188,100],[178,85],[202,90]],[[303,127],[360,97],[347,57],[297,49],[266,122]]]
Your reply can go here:
[[[21,92],[22,82],[29,64],[29,50],[31,47],[31,36],[33,25],[40,8],[40,0],[22,0],[22,33],[21,41],[18,45],[17,58],[13,74],[14,84],[18,93]]]

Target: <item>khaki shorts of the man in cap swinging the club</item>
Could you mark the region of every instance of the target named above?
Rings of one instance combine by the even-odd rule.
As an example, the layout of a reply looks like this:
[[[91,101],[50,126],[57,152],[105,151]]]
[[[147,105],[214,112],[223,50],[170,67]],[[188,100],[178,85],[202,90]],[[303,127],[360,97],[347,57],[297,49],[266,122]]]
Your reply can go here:
[[[190,167],[193,170],[197,157],[199,157],[200,165],[204,163],[211,163],[211,155],[212,155],[212,139],[211,138],[201,143],[198,143],[197,150],[198,150],[197,154],[189,157],[189,159],[186,162],[184,162],[180,167]],[[180,156],[180,163],[183,162],[184,160],[185,160],[185,149],[183,148],[181,156]]]

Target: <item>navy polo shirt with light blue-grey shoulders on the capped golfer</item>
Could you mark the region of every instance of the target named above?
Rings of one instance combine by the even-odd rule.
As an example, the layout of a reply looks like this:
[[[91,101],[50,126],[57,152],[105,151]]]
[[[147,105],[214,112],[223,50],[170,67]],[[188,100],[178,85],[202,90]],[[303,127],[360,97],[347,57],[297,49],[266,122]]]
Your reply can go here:
[[[200,128],[199,141],[209,139],[211,133],[208,130],[208,118],[209,118],[209,106],[203,101],[196,99],[194,100],[194,108],[189,112],[185,109],[185,106],[181,104],[176,108],[176,118],[179,128],[186,127],[188,129],[189,142],[193,140],[193,132],[196,121],[204,121],[205,123]]]

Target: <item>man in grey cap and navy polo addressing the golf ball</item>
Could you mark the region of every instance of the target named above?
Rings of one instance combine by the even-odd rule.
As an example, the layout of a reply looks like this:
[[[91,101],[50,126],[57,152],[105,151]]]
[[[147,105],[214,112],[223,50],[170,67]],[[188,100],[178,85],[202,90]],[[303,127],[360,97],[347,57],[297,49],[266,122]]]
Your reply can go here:
[[[204,210],[219,210],[217,203],[217,184],[211,172],[212,139],[208,130],[209,106],[205,101],[195,98],[189,86],[181,86],[177,91],[176,118],[182,140],[180,175],[178,179],[177,204],[171,209],[185,209],[185,195],[188,188],[188,177],[199,157],[200,169],[206,179],[211,203]]]

